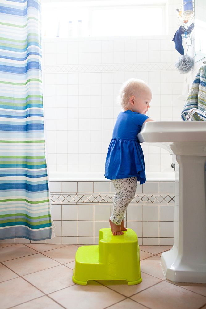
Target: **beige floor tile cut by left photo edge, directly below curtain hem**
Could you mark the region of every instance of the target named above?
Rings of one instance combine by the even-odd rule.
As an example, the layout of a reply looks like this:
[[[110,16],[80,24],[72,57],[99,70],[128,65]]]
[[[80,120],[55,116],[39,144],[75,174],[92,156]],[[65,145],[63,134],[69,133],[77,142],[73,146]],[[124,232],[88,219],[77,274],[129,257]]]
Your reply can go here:
[[[0,248],[0,262],[17,259],[18,257],[35,254],[37,251],[25,246],[24,244],[16,244]]]

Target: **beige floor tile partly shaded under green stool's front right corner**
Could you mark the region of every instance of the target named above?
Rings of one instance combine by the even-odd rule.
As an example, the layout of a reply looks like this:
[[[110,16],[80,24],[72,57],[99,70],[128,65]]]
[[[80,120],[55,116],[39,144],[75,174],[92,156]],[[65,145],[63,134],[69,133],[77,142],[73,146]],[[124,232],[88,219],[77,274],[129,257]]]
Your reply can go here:
[[[99,281],[98,280],[98,282],[120,294],[123,294],[124,296],[130,297],[162,281],[161,279],[155,278],[146,273],[141,273],[141,277],[142,277],[142,282],[139,284],[135,284],[133,286],[129,286],[127,281],[106,281],[106,280]]]

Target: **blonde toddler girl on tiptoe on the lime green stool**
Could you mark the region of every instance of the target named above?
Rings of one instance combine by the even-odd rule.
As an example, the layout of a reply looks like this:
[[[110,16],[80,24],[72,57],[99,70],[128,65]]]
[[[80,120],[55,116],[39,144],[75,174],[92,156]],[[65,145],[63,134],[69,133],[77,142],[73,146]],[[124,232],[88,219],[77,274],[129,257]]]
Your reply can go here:
[[[137,134],[146,121],[153,121],[145,115],[151,99],[151,89],[140,79],[129,79],[120,89],[123,110],[113,129],[104,175],[115,187],[113,213],[109,219],[113,235],[122,235],[122,231],[127,230],[124,213],[135,196],[137,180],[140,184],[146,181],[144,156]]]

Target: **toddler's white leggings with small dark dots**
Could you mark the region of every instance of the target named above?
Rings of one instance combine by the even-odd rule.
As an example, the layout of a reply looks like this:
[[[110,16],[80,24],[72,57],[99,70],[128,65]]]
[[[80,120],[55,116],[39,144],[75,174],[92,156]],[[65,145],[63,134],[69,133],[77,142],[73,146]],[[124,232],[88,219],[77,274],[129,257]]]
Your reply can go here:
[[[112,223],[120,225],[125,218],[124,213],[133,200],[137,188],[137,177],[112,179],[115,187],[113,197],[113,213],[110,217]]]

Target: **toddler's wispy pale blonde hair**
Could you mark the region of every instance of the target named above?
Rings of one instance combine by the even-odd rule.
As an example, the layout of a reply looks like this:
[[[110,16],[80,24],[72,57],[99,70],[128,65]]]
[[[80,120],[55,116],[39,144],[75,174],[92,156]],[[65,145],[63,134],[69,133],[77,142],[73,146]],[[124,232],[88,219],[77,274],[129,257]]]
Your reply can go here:
[[[130,97],[132,95],[139,96],[144,90],[151,92],[151,89],[143,80],[137,78],[128,79],[120,88],[120,92],[117,97],[117,104],[121,105],[123,108],[126,108],[129,104]]]

